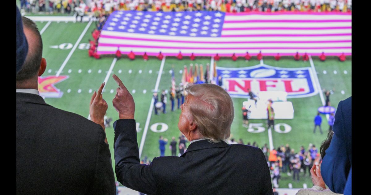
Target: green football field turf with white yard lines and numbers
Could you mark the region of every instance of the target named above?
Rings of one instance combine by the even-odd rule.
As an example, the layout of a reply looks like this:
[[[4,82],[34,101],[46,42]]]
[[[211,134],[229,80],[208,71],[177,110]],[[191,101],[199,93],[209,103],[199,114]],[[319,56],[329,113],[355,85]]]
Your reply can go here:
[[[118,75],[124,85],[128,88],[135,100],[135,120],[137,122],[137,140],[141,145],[141,159],[145,156],[152,160],[160,156],[158,149],[158,138],[160,135],[171,140],[171,137],[179,137],[180,131],[177,128],[180,110],[170,111],[171,105],[167,104],[167,114],[155,115],[154,111],[149,113],[152,100],[152,92],[158,84],[158,90],[169,90],[171,87],[171,69],[174,68],[175,80],[177,84],[181,82],[181,72],[183,66],[192,64],[203,64],[204,70],[206,64],[210,63],[210,58],[196,58],[190,61],[188,57],[179,61],[174,57],[166,57],[160,61],[157,58],[150,57],[144,62],[142,56],[136,56],[134,61],[130,61],[126,56],[114,61],[113,56],[105,56],[102,59],[89,58],[88,56],[88,39],[92,39],[91,32],[95,27],[93,23],[72,23],[72,22],[36,22],[39,30],[42,31],[43,39],[43,57],[46,58],[47,68],[43,77],[50,75],[68,76],[67,79],[56,83],[63,95],[61,98],[46,98],[46,103],[54,107],[80,114],[88,117],[89,103],[94,90],[97,90],[102,82],[106,81],[103,91],[103,98],[108,103],[106,116],[112,117],[113,121],[118,119],[118,114],[112,106],[112,99],[115,96],[118,87],[112,74]],[[335,57],[328,57],[325,62],[319,61],[318,57],[313,56],[313,65],[315,67],[321,89],[333,90],[334,94],[330,95],[331,105],[337,107],[339,101],[345,100],[352,95],[352,62],[347,59],[345,62],[339,62]],[[161,63],[163,65],[161,66]],[[299,68],[311,67],[310,62],[294,61],[292,57],[282,58],[275,61],[272,57],[265,57],[263,63],[270,66],[281,68]],[[220,59],[217,66],[220,67],[246,67],[260,64],[253,57],[246,62],[243,58],[237,61],[231,59]],[[162,72],[159,72],[162,68]],[[159,73],[161,73],[159,75]],[[242,126],[242,103],[244,98],[233,98],[235,117],[232,124],[231,134],[235,139],[243,139],[248,142],[257,142],[259,147],[265,143],[269,146],[268,130],[266,129],[266,120],[250,120],[250,123],[262,123],[265,130],[261,133],[250,133],[247,128]],[[313,134],[313,118],[317,113],[317,108],[322,105],[319,94],[305,98],[290,98],[295,110],[294,119],[292,120],[275,120],[275,124],[288,124],[292,130],[288,133],[279,133],[272,130],[272,143],[274,147],[289,144],[295,152],[299,152],[300,146],[308,148],[312,143],[317,146],[326,138],[328,124],[326,117],[322,115],[322,130],[324,134],[316,131]],[[168,101],[169,102],[169,101]],[[176,105],[176,103],[175,103]],[[112,123],[113,123],[112,121]],[[107,139],[111,150],[112,166],[114,167],[114,129],[106,128]],[[146,125],[147,123],[147,125]],[[163,125],[162,125],[163,124]],[[168,128],[166,128],[166,126]],[[152,127],[152,128],[151,128]],[[283,127],[282,127],[283,128]],[[164,131],[165,130],[165,131]],[[283,129],[281,129],[283,130]],[[162,131],[162,132],[158,132]],[[171,155],[167,147],[165,155]],[[233,162],[231,162],[233,163]],[[115,169],[114,169],[115,170]],[[303,184],[312,186],[311,178],[303,178],[300,173],[300,182],[293,182],[292,176],[282,173],[279,183],[280,188],[288,188],[292,183],[293,188],[303,188]]]

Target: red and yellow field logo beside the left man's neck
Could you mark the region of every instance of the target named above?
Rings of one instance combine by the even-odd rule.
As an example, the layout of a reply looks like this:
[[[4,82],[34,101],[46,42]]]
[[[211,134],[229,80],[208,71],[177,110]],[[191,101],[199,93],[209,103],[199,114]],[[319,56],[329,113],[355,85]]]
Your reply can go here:
[[[68,79],[69,76],[46,76],[39,77],[37,82],[39,84],[38,90],[40,96],[44,98],[61,98],[63,92],[56,88],[54,85]]]

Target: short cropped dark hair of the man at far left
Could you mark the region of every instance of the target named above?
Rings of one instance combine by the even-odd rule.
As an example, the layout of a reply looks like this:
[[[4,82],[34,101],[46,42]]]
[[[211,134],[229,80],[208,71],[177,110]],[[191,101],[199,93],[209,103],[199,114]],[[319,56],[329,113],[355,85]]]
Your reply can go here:
[[[23,16],[22,23],[23,29],[31,30],[34,33],[34,36],[36,36],[36,39],[38,40],[36,41],[36,44],[33,45],[29,44],[26,60],[24,61],[21,70],[17,73],[16,77],[17,81],[23,81],[35,76],[37,71],[39,71],[40,69],[40,63],[43,53],[43,41],[41,39],[39,29],[37,29],[35,22]]]

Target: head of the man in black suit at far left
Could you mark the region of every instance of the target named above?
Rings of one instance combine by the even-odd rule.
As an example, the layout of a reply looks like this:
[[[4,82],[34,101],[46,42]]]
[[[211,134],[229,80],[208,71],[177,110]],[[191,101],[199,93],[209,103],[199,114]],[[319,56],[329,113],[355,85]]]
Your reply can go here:
[[[43,42],[37,26],[32,20],[22,17],[23,31],[29,45],[26,60],[22,69],[18,72],[17,88],[37,89],[37,77],[41,76],[46,69],[46,60],[42,58]]]

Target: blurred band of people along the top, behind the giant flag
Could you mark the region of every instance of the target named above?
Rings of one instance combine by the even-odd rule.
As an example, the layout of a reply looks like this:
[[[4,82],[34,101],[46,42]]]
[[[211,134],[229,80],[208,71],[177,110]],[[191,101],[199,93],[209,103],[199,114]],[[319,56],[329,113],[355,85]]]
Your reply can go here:
[[[351,0],[20,0],[26,12],[66,13],[83,10],[90,16],[114,10],[221,12],[351,12]]]

